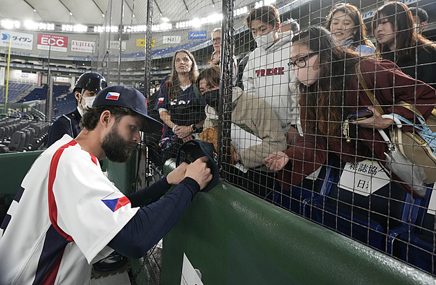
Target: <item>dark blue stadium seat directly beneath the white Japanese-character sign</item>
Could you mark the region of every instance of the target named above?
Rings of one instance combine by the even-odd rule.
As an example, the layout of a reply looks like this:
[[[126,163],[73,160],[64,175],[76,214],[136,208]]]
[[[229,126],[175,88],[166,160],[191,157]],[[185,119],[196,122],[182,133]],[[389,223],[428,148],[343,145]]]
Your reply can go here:
[[[325,195],[304,201],[303,216],[384,251],[388,230],[408,221],[412,196],[394,182],[363,195],[338,187],[339,179]]]

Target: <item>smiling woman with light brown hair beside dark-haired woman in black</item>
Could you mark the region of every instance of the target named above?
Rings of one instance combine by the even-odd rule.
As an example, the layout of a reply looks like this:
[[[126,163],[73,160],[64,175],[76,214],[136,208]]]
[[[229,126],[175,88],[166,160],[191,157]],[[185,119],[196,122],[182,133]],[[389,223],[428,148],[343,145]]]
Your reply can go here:
[[[367,39],[361,12],[349,3],[338,3],[329,12],[325,28],[340,44],[356,53],[374,53],[374,45]]]

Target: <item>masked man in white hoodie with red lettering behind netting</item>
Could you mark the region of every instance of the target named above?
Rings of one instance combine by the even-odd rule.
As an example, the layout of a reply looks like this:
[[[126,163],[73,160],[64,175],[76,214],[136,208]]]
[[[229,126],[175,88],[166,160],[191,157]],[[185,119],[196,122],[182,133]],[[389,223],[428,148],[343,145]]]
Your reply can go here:
[[[292,145],[298,135],[299,118],[296,76],[287,66],[293,34],[279,33],[280,17],[274,6],[251,10],[245,21],[257,48],[244,68],[244,91],[271,104],[287,134],[287,143]]]

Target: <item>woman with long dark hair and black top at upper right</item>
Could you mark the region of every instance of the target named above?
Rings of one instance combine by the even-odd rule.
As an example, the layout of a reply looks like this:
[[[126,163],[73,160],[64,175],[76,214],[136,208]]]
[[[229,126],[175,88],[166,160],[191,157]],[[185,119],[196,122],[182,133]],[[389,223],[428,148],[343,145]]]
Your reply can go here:
[[[387,3],[372,18],[376,51],[401,68],[403,73],[436,88],[436,45],[417,34],[408,6]]]

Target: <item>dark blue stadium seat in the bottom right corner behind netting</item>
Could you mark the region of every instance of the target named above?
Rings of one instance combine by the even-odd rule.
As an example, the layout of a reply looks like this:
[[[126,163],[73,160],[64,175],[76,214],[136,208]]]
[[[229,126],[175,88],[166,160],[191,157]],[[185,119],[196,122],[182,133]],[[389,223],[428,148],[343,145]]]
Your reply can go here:
[[[429,187],[424,199],[413,203],[410,223],[389,231],[387,248],[389,254],[433,275],[436,273],[435,204],[435,188]]]

